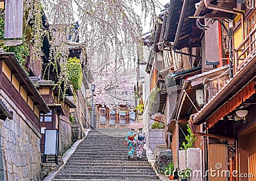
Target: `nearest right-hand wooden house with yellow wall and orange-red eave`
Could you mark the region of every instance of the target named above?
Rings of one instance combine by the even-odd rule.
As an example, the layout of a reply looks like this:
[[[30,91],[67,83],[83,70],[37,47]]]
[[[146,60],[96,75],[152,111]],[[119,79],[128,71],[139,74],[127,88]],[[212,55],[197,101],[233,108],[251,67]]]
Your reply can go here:
[[[228,54],[230,80],[225,79],[225,85],[218,87],[214,96],[205,100],[202,110],[193,115],[192,124],[204,128],[196,131],[196,127],[192,126],[195,134],[205,138],[202,141],[204,171],[221,163],[223,170],[236,172],[230,174],[230,180],[255,180],[254,1],[232,4],[204,1],[196,15],[227,19],[228,47],[233,50]],[[216,87],[216,83],[212,83],[207,84]],[[210,175],[205,179],[226,180],[227,177],[214,178]]]

